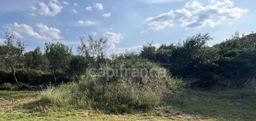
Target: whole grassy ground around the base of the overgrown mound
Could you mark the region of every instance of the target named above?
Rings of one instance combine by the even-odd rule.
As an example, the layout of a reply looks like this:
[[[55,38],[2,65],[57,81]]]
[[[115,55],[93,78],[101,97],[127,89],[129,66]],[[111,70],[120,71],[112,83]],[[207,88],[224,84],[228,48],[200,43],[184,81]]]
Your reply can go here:
[[[111,115],[52,108],[40,92],[0,91],[0,120],[255,120],[256,90],[173,92],[166,106],[150,113]]]

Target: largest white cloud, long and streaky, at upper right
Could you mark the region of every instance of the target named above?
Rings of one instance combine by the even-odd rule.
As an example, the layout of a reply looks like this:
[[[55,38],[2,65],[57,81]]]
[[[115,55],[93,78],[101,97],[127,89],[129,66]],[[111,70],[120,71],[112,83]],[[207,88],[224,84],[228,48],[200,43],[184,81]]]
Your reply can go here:
[[[154,30],[165,29],[175,24],[179,24],[185,29],[204,26],[214,27],[223,22],[241,18],[246,11],[248,10],[234,7],[234,3],[230,0],[211,0],[208,5],[198,1],[191,1],[179,10],[162,13],[157,17],[149,17],[145,21],[148,29]]]

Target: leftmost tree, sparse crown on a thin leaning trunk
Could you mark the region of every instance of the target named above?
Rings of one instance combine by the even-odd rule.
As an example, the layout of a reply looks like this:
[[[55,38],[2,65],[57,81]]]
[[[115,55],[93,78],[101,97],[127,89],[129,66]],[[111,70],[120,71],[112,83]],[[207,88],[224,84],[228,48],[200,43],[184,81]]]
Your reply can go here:
[[[22,53],[24,50],[24,43],[17,40],[13,34],[6,32],[4,45],[0,48],[1,60],[3,60],[6,68],[12,71],[15,82],[19,88],[20,84],[16,77],[16,71],[22,64]]]

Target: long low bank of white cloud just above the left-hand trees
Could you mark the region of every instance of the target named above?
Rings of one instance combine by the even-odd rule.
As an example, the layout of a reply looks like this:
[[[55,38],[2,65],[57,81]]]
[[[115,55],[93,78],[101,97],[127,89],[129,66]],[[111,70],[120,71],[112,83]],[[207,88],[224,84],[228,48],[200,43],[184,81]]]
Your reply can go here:
[[[17,38],[23,38],[22,35],[29,36],[30,38],[42,40],[42,41],[52,41],[53,39],[61,39],[61,31],[56,28],[47,27],[44,24],[36,24],[39,29],[39,32],[34,31],[34,29],[26,24],[18,24],[14,22],[8,28],[12,31],[13,35]]]

